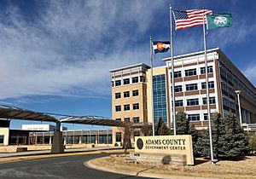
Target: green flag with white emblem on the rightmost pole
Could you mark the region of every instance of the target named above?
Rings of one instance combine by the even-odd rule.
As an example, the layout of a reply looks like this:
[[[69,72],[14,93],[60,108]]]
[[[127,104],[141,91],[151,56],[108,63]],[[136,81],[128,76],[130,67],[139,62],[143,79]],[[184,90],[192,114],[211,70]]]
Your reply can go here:
[[[232,26],[232,14],[207,14],[207,29]]]

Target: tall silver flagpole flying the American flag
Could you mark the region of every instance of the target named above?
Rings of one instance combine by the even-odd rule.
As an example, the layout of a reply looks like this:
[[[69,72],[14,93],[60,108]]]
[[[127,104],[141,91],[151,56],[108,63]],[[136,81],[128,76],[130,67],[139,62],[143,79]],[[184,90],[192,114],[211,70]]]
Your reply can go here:
[[[172,124],[173,133],[176,136],[176,113],[175,113],[175,91],[174,91],[174,61],[173,61],[173,38],[172,38],[172,5],[170,4],[170,24],[171,24],[171,57],[172,57]]]

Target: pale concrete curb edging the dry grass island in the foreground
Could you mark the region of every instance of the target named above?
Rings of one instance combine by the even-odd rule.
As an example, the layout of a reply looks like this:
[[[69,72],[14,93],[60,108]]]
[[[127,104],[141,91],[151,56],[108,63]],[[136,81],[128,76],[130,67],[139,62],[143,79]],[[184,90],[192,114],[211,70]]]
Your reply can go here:
[[[103,171],[107,171],[107,172],[111,172],[111,173],[118,173],[118,174],[127,175],[127,176],[143,176],[143,177],[163,178],[163,179],[168,179],[168,178],[171,178],[171,177],[172,177],[172,179],[218,179],[218,178],[195,177],[195,176],[161,175],[161,174],[154,174],[154,173],[143,173],[143,171],[141,171],[141,172],[136,172],[136,171],[127,172],[125,170],[115,170],[115,169],[109,169],[109,168],[106,168],[106,167],[102,167],[102,166],[99,166],[99,165],[94,165],[94,164],[91,163],[92,160],[85,161],[84,166],[89,167],[91,169],[95,169],[95,170],[103,170]]]

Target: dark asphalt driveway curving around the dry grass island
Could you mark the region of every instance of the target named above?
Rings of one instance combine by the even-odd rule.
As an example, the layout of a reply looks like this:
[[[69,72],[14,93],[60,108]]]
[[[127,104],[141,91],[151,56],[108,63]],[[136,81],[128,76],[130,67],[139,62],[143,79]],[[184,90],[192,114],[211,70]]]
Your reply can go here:
[[[84,161],[106,155],[108,154],[86,154],[3,163],[0,164],[0,178],[143,178],[93,170],[84,166]]]

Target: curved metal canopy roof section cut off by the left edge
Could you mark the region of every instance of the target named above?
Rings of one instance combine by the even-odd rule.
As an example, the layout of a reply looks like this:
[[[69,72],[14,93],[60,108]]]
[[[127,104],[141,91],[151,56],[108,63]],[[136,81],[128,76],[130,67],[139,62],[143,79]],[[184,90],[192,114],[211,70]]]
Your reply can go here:
[[[57,118],[49,116],[47,113],[38,113],[19,107],[9,107],[3,105],[0,105],[0,118],[58,122]]]

